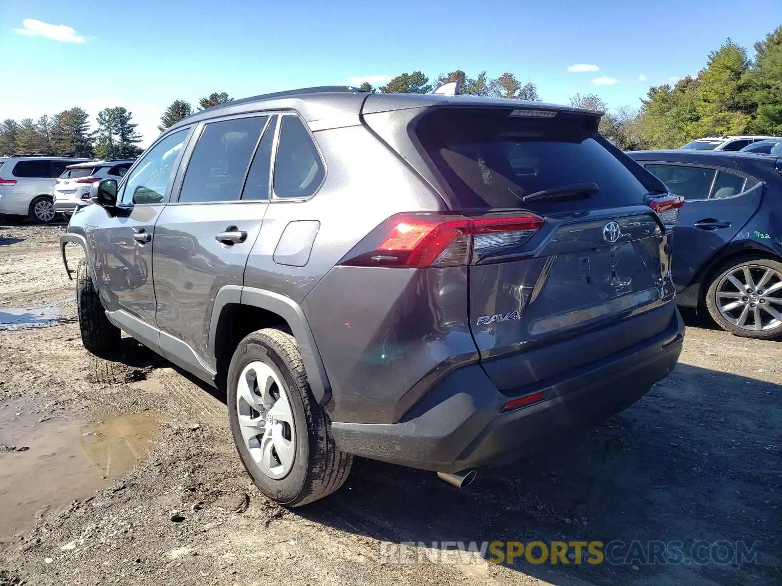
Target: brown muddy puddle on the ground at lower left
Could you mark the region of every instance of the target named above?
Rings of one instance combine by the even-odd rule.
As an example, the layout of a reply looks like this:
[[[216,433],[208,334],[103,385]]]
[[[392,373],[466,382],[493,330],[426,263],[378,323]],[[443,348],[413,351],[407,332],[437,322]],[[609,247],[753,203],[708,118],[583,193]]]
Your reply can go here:
[[[0,538],[116,481],[155,448],[160,432],[154,411],[30,422],[14,410],[3,409],[0,420]]]

